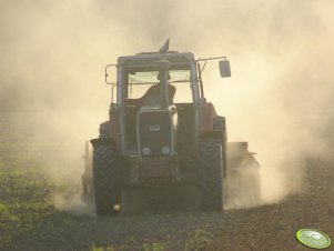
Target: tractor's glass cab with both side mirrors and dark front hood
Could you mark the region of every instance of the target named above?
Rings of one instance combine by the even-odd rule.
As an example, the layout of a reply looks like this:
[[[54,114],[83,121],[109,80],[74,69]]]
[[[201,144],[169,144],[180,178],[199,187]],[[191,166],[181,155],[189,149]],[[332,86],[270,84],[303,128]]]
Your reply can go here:
[[[208,107],[201,60],[196,60],[193,53],[168,49],[169,41],[160,52],[142,52],[118,59],[117,82],[109,82],[113,93],[117,93],[115,102],[111,103],[110,120],[123,124],[119,131],[114,128],[112,131],[122,155],[130,152],[140,158],[173,155],[182,143],[198,142],[201,119],[205,118],[202,110]],[[222,58],[221,74],[229,77],[229,61],[225,57],[215,59]],[[214,109],[212,106],[210,108],[213,114]],[[146,145],[142,142],[146,139],[155,139],[155,143]]]

